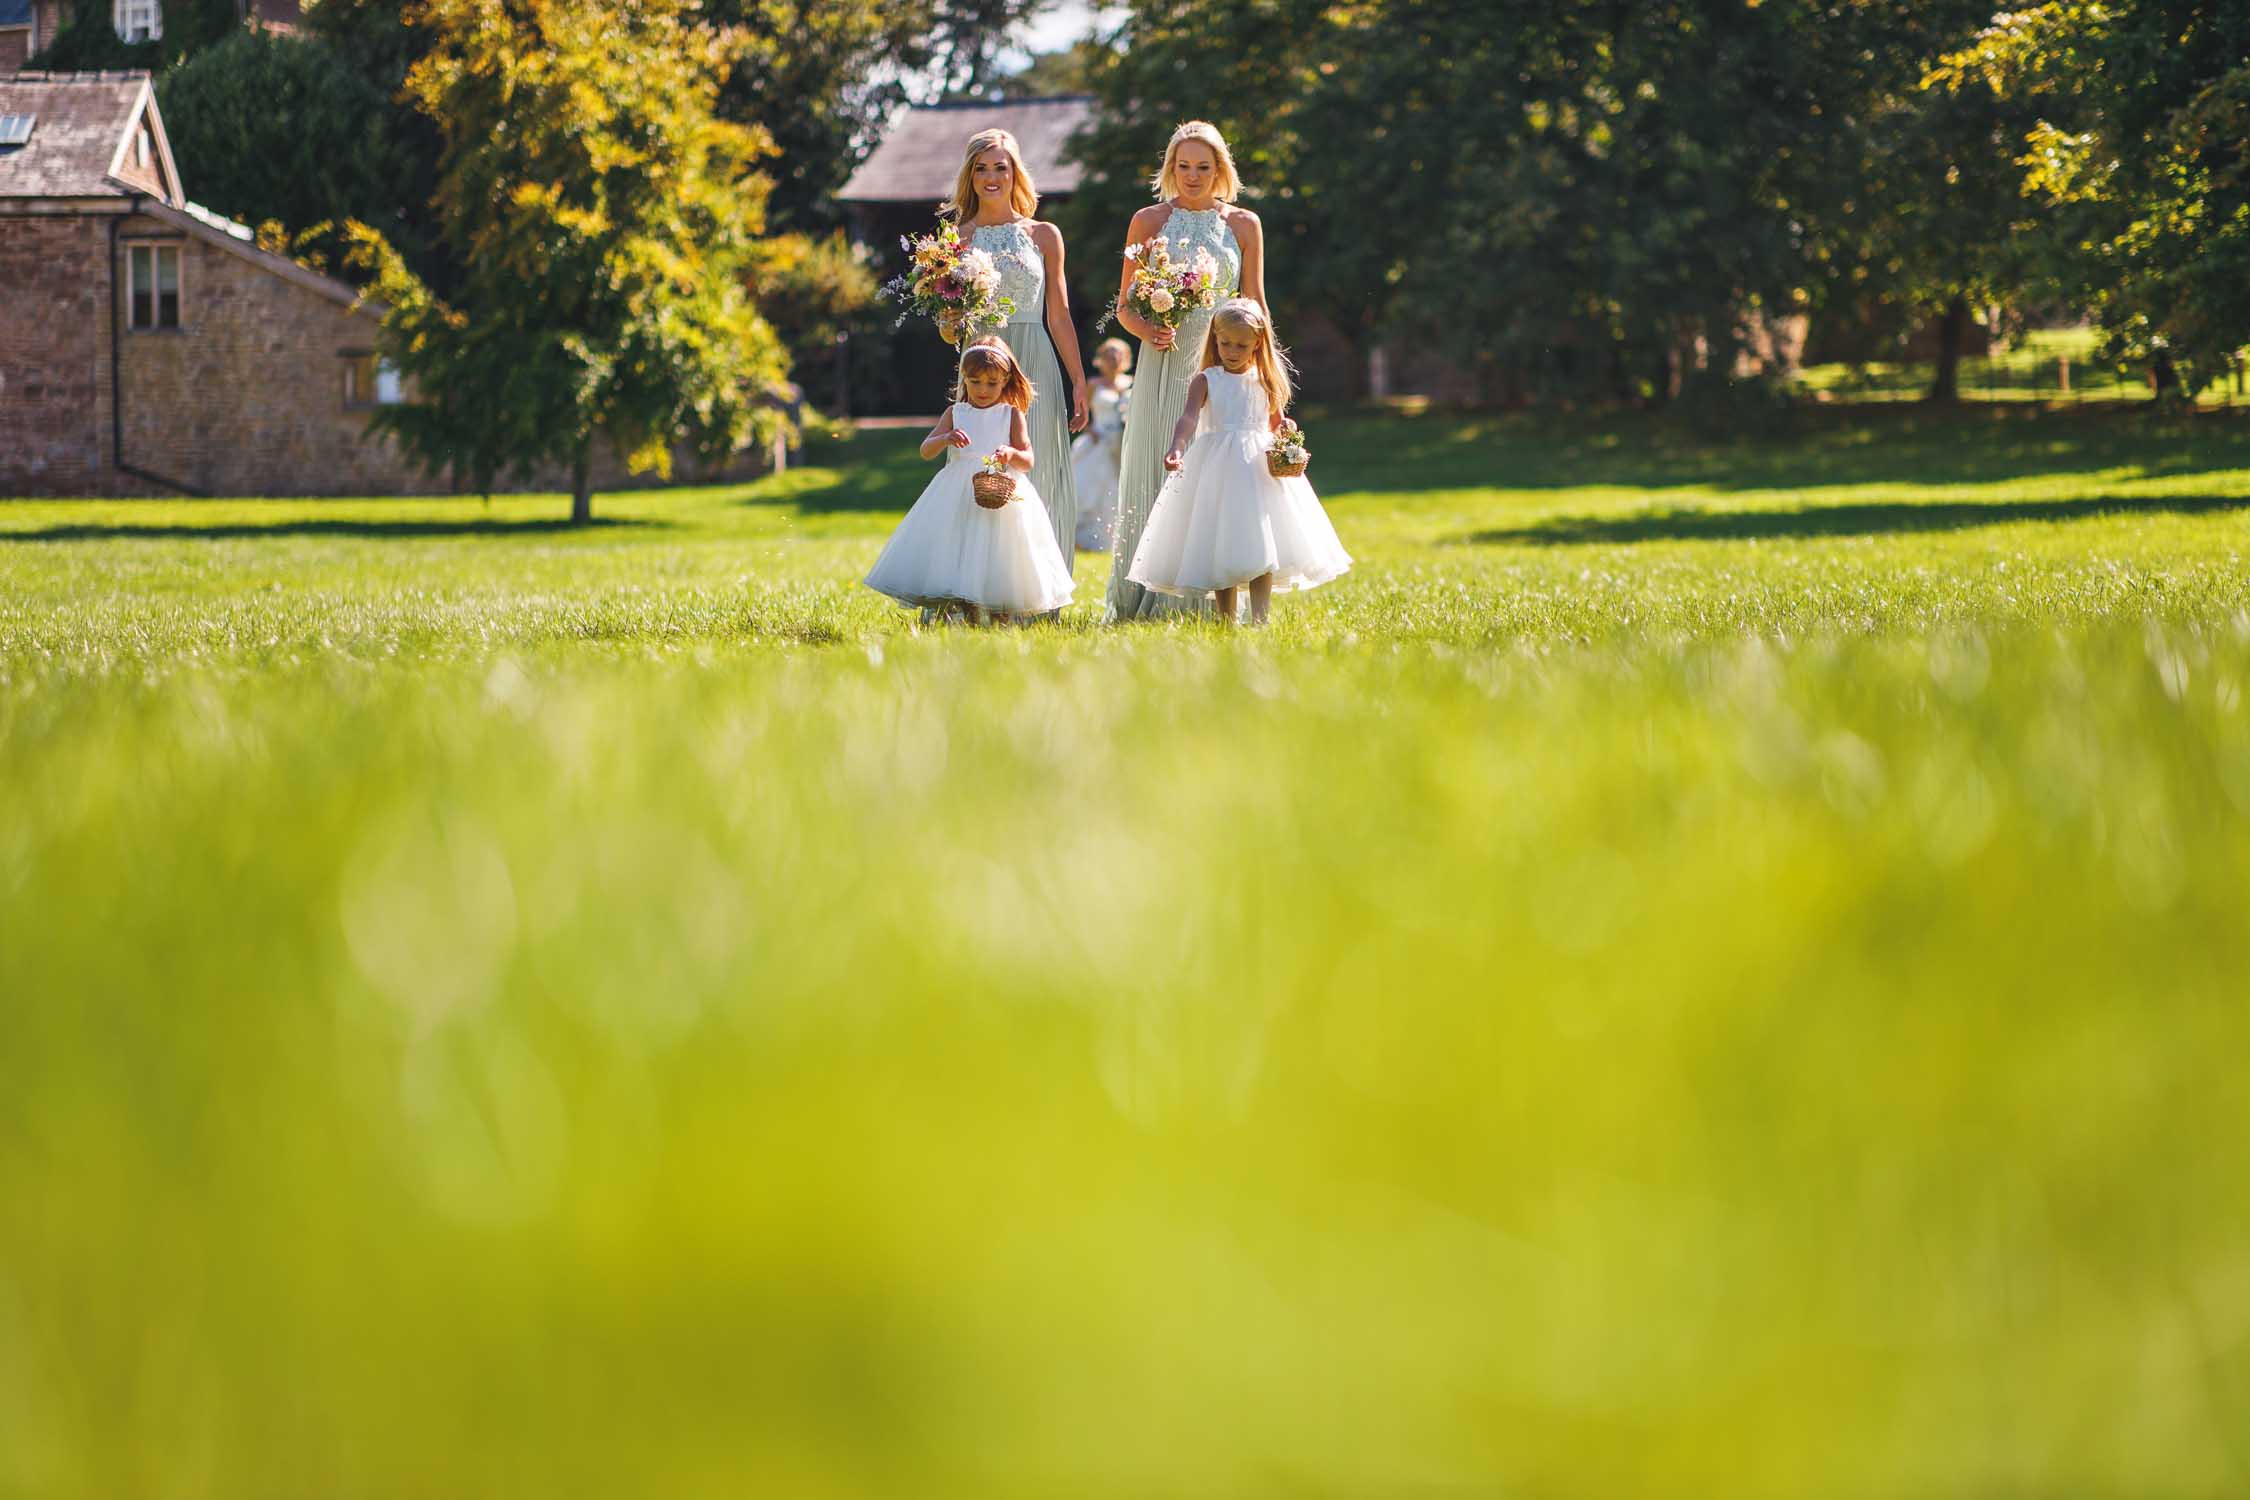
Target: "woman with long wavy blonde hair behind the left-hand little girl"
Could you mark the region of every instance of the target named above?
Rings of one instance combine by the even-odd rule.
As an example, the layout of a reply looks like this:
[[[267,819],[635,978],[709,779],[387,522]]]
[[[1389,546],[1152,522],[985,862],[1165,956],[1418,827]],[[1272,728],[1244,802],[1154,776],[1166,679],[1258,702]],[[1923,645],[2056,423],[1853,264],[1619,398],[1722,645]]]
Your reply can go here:
[[[1033,218],[1037,207],[1040,189],[1024,171],[1024,153],[1015,137],[1006,130],[972,135],[954,196],[940,214],[961,227],[961,238],[992,256],[999,265],[1001,295],[1015,299],[1015,317],[997,331],[997,337],[1037,391],[1028,414],[1030,448],[1040,459],[1030,470],[1030,484],[1046,504],[1055,544],[1071,558],[1078,546],[1071,434],[1087,425],[1087,369],[1078,358],[1071,292],[1062,281],[1062,232]],[[1069,407],[1060,400],[1064,371],[1071,376]]]

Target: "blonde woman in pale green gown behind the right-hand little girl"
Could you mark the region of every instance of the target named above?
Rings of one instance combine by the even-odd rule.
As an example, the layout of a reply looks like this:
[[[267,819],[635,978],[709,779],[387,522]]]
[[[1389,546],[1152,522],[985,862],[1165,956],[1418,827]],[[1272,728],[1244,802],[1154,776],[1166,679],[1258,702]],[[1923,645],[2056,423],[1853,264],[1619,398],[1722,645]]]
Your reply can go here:
[[[1208,119],[1190,119],[1172,130],[1154,189],[1156,202],[1132,216],[1125,245],[1161,234],[1172,247],[1172,259],[1208,250],[1220,263],[1222,297],[1240,292],[1264,308],[1264,232],[1256,214],[1235,207],[1242,180],[1235,175],[1235,157],[1220,128]],[[1199,353],[1210,335],[1210,313],[1195,313],[1179,328],[1143,322],[1125,301],[1130,281],[1132,261],[1123,261],[1118,322],[1141,340],[1141,378],[1134,382],[1132,409],[1125,414],[1125,448],[1118,454],[1118,528],[1105,609],[1109,621],[1206,607],[1199,598],[1148,589],[1134,582],[1130,571],[1141,528],[1148,526],[1148,510],[1163,488],[1163,454],[1188,405],[1188,382],[1197,376]]]

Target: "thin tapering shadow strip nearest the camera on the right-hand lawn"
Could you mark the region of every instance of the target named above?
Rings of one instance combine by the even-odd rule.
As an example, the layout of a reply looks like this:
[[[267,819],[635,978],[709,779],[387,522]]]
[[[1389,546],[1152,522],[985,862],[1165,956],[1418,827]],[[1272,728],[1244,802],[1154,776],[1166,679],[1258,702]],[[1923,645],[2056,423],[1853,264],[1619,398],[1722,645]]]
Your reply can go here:
[[[2014,522],[2081,522],[2104,515],[2214,515],[2250,510],[2250,495],[2162,495],[2153,499],[2088,495],[2084,499],[1933,501],[1876,506],[1800,506],[1791,510],[1631,510],[1559,515],[1530,526],[1474,531],[1454,542],[1516,546],[1602,546],[1631,542],[1757,542],[1782,537],[1971,531]]]

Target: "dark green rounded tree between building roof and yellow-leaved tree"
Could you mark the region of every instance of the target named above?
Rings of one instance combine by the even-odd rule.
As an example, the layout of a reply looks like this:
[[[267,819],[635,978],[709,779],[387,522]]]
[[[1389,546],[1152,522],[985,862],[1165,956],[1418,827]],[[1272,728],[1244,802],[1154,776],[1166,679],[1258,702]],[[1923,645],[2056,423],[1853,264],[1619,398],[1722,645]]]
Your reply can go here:
[[[428,274],[434,162],[398,128],[398,79],[364,63],[317,31],[243,27],[155,90],[198,202],[295,232],[358,218]]]

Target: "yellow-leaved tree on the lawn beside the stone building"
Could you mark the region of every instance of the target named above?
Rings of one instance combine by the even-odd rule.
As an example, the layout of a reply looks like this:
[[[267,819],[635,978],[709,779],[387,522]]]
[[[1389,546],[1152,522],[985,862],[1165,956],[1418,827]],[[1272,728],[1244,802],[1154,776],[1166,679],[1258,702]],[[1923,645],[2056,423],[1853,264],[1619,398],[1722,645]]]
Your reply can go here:
[[[592,519],[592,450],[670,472],[675,443],[736,452],[776,421],[785,369],[749,301],[770,151],[713,115],[740,38],[691,0],[425,0],[407,97],[439,121],[434,200],[464,268],[439,297],[371,227],[353,256],[389,304],[382,351],[412,400],[378,421],[479,488],[572,470]]]

